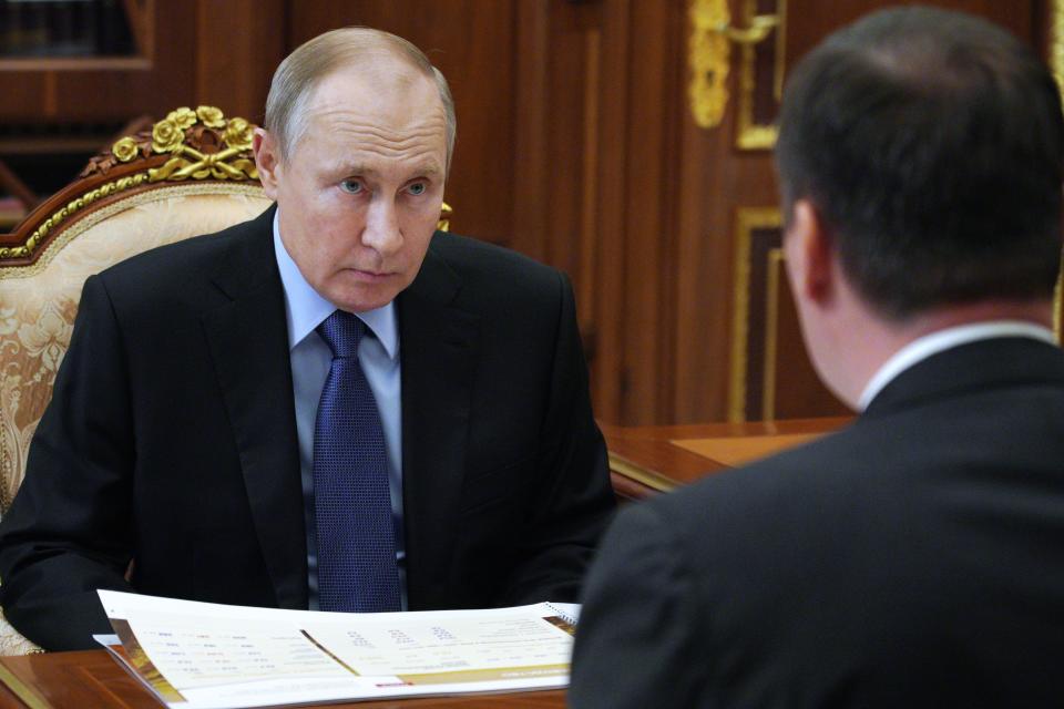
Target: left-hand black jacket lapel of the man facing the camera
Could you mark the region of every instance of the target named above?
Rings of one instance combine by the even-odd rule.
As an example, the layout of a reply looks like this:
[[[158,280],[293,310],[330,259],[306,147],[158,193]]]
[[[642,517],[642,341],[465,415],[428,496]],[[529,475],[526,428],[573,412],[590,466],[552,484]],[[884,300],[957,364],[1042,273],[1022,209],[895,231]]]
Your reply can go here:
[[[234,238],[214,276],[231,301],[206,314],[203,325],[277,603],[306,608],[303,490],[273,215],[267,209]]]

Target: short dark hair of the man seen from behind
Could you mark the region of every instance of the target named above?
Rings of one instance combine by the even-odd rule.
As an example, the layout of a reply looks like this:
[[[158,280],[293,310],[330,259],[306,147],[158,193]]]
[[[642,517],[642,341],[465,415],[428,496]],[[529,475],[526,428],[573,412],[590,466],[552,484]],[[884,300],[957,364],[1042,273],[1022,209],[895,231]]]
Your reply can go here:
[[[861,297],[902,319],[1051,296],[1064,125],[1037,54],[990,22],[884,10],[789,78],[776,161],[788,218],[809,199]]]

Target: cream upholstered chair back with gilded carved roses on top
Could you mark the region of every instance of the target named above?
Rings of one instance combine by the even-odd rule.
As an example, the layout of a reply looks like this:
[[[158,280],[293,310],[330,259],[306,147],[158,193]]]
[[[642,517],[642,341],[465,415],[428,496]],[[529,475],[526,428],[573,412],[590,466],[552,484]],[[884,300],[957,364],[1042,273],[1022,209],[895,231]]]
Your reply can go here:
[[[78,181],[0,236],[0,515],[22,482],[85,278],[266,209],[253,129],[211,106],[177,109],[94,157]],[[35,648],[0,623],[0,655]]]

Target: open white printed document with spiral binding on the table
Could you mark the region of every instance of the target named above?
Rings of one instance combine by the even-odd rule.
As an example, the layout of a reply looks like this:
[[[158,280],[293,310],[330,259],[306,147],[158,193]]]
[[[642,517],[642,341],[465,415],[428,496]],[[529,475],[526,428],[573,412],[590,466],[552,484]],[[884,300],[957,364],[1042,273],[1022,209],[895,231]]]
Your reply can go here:
[[[560,689],[580,607],[318,613],[100,590],[101,644],[168,707]]]

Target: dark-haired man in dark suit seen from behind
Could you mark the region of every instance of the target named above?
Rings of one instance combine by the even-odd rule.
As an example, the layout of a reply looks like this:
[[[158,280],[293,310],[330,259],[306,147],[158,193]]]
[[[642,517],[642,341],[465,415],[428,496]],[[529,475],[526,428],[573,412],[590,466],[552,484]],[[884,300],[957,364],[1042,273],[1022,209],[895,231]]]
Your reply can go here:
[[[982,20],[907,8],[789,78],[784,248],[835,435],[624,511],[574,707],[1047,707],[1064,697],[1064,129]]]

